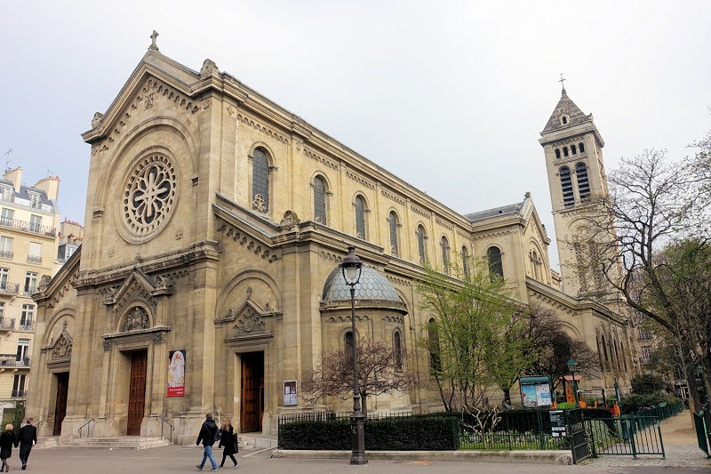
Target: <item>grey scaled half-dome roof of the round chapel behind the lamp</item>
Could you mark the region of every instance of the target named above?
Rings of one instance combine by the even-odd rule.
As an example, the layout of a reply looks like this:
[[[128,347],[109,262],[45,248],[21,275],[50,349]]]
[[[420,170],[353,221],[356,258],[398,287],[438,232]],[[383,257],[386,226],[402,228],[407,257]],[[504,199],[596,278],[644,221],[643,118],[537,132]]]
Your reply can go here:
[[[340,267],[333,269],[328,278],[326,278],[321,300],[323,302],[350,301],[350,286],[346,285]],[[387,277],[377,269],[373,269],[367,265],[363,265],[361,278],[356,285],[356,300],[393,301],[402,303],[397,292],[395,292],[395,288],[390,284]]]

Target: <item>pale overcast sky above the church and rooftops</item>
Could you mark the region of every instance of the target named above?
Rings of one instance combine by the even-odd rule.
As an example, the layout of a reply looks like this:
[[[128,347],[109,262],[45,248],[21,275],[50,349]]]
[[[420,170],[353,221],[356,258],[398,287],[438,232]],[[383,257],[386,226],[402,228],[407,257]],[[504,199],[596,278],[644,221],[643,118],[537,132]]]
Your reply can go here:
[[[531,191],[555,238],[538,139],[559,74],[608,171],[645,148],[690,155],[711,130],[709,20],[707,1],[7,1],[0,159],[12,149],[28,185],[58,175],[62,219],[83,223],[80,134],[156,29],[173,60],[214,60],[454,211]]]

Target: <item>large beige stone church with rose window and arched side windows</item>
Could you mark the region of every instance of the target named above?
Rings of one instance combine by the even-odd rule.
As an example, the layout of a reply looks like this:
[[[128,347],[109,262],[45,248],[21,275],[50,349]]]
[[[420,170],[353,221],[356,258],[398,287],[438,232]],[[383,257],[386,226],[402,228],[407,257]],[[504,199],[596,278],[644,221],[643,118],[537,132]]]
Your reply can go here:
[[[196,71],[154,41],[83,138],[84,244],[34,294],[28,414],[44,422],[40,436],[76,437],[92,421],[84,436],[150,437],[164,419],[190,444],[207,411],[243,433],[275,433],[278,414],[311,408],[302,377],[349,335],[337,270],[348,245],[365,263],[357,335],[408,349],[405,370],[429,366],[415,347],[430,317],[413,288],[420,262],[459,255],[488,260],[515,298],[555,309],[600,352],[602,375],[587,389],[624,385],[633,370],[626,317],[562,291],[570,278],[550,269],[529,194],[455,213],[212,60]],[[541,144],[555,212],[603,189],[602,138],[565,93]],[[441,406],[427,389],[368,404]]]

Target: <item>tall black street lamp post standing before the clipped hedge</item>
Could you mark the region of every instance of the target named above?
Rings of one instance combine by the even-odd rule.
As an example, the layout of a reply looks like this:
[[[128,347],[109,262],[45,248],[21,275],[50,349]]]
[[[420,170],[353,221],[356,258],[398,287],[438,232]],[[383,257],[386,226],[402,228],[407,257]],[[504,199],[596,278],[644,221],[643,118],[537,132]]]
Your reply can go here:
[[[353,454],[351,464],[367,464],[365,457],[365,415],[361,411],[361,390],[358,387],[358,358],[356,338],[356,285],[361,279],[363,262],[356,255],[356,247],[348,246],[348,255],[340,264],[343,280],[350,287],[350,327],[353,339],[353,413],[350,415],[351,439]]]

